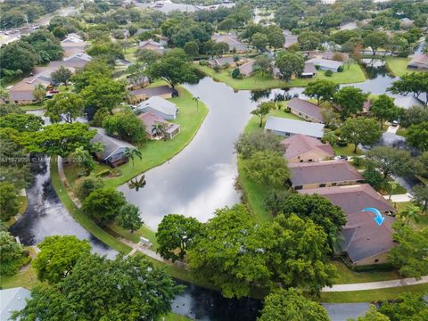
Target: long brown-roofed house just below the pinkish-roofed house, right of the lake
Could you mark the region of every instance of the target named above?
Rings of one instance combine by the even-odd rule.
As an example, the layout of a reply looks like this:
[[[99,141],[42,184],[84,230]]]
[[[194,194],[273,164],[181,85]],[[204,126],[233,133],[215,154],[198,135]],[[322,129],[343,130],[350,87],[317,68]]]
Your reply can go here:
[[[348,161],[295,162],[288,164],[295,190],[362,183],[364,178]]]

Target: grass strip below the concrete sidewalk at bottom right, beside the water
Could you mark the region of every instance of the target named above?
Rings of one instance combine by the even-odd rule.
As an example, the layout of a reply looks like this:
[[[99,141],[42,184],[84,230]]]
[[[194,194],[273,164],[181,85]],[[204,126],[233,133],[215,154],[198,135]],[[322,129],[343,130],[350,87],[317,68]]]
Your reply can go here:
[[[393,300],[404,292],[428,293],[428,284],[399,286],[387,289],[351,292],[321,292],[319,298],[313,298],[324,303],[374,302],[378,300]]]

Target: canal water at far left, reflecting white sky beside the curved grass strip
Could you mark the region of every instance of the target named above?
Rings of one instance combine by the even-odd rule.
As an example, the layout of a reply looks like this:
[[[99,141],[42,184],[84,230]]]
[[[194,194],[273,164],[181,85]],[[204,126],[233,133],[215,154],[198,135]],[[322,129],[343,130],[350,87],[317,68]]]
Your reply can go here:
[[[76,235],[87,239],[93,251],[114,257],[115,251],[89,234],[64,208],[53,190],[50,162],[47,159],[32,164],[34,182],[27,189],[29,206],[22,217],[10,228],[12,235],[18,236],[24,245],[36,245],[46,236]]]

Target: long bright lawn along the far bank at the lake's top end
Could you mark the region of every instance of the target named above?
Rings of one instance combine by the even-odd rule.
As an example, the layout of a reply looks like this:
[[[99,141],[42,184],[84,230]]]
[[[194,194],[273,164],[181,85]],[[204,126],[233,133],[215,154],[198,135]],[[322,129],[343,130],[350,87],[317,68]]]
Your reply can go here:
[[[345,66],[343,72],[335,72],[332,77],[326,77],[325,71],[318,70],[317,76],[312,79],[292,79],[289,82],[285,82],[281,79],[275,79],[271,77],[262,77],[260,75],[254,75],[249,78],[243,79],[234,79],[230,75],[231,69],[220,70],[216,72],[208,66],[200,66],[195,64],[196,68],[201,70],[207,76],[214,78],[218,81],[225,83],[227,86],[231,86],[235,90],[265,90],[271,88],[288,88],[292,86],[307,86],[309,82],[314,81],[315,79],[329,79],[337,82],[338,84],[350,84],[363,82],[366,80],[361,67],[354,63],[349,66]]]

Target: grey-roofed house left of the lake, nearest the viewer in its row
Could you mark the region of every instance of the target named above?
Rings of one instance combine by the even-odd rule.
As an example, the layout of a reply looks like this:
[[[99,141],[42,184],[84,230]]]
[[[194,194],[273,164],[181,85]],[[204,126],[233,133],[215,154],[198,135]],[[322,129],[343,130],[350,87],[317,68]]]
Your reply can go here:
[[[121,141],[114,137],[108,136],[103,128],[95,128],[97,133],[91,139],[91,143],[100,143],[103,145],[103,152],[97,152],[96,158],[103,161],[107,165],[115,168],[121,164],[128,162],[128,157],[125,155],[127,148],[136,148],[132,144]]]

